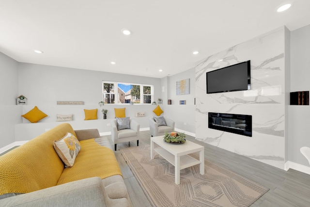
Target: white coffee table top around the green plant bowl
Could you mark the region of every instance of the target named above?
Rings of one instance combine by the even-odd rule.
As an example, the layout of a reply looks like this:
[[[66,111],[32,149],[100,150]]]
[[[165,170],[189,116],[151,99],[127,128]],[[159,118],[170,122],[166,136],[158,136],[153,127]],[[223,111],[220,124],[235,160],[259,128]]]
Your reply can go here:
[[[172,155],[177,157],[204,150],[204,147],[202,145],[190,142],[188,140],[186,140],[186,142],[182,144],[173,144],[165,142],[164,136],[158,136],[151,137],[151,141],[158,144],[159,146],[170,152]]]

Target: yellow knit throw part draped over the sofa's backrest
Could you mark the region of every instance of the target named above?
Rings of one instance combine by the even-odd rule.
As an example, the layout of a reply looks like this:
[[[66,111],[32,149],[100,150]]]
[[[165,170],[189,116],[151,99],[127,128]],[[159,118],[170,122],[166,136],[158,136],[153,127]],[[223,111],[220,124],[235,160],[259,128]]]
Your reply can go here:
[[[67,132],[76,136],[70,124],[61,124],[0,156],[0,195],[55,186],[64,165],[53,142]]]

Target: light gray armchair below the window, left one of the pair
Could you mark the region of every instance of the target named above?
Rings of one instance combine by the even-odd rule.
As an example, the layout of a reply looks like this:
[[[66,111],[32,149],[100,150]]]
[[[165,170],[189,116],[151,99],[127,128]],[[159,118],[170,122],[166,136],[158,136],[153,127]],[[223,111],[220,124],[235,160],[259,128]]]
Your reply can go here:
[[[118,143],[131,142],[137,140],[137,145],[139,146],[140,138],[140,124],[133,119],[129,121],[129,129],[117,130],[116,119],[111,120],[111,139],[114,143],[114,148],[116,151],[116,145]]]

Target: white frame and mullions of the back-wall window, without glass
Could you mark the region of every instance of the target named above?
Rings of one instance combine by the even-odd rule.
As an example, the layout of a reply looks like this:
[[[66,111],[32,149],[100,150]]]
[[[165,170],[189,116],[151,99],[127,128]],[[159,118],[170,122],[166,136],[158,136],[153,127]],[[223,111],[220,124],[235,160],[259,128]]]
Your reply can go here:
[[[114,91],[113,93],[105,93],[104,91],[104,83],[109,83],[109,84],[114,84]],[[118,82],[118,81],[106,81],[102,80],[102,100],[104,101],[104,97],[106,94],[113,94],[114,95],[114,103],[105,103],[105,104],[116,104],[116,105],[124,105],[128,103],[120,103],[120,93],[118,92],[118,84],[125,84],[125,85],[139,85],[140,86],[140,103],[135,103],[135,104],[140,104],[140,105],[151,105],[154,102],[154,85],[151,84],[143,84],[143,83],[130,83],[130,82]],[[151,94],[144,94],[143,92],[143,86],[146,87],[151,87]],[[115,91],[115,88],[117,92]],[[125,93],[125,92],[124,92]],[[144,102],[144,95],[151,96],[151,103],[141,103]],[[125,95],[123,96],[125,97]]]

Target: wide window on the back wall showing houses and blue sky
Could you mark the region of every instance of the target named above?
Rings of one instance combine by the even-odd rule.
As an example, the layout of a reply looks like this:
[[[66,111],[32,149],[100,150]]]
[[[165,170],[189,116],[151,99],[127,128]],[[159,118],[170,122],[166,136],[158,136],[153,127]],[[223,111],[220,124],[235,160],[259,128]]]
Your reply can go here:
[[[117,89],[115,89],[115,86],[117,86]],[[151,104],[154,99],[154,86],[102,81],[102,93],[105,104],[126,104],[130,102],[136,104]],[[141,97],[143,97],[142,100]]]

